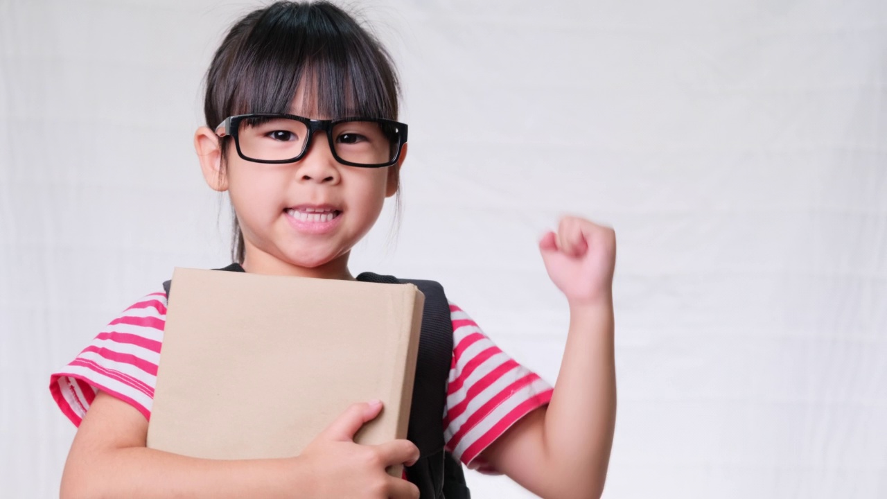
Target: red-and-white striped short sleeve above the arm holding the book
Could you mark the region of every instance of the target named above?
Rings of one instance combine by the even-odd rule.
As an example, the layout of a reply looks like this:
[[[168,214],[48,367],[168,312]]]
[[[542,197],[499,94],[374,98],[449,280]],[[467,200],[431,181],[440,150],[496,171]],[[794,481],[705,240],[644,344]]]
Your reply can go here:
[[[89,346],[50,377],[50,392],[76,426],[101,390],[151,415],[160,361],[166,294],[153,293],[111,321]]]

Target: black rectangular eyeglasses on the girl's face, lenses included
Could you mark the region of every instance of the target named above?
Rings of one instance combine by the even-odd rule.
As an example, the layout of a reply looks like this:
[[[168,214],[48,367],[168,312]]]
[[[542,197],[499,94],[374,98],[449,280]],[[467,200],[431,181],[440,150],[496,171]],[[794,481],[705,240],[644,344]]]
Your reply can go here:
[[[237,154],[247,161],[282,163],[301,160],[314,132],[324,131],[337,162],[381,168],[397,162],[406,130],[405,123],[382,118],[312,120],[255,113],[225,118],[216,127],[216,135],[233,137]]]

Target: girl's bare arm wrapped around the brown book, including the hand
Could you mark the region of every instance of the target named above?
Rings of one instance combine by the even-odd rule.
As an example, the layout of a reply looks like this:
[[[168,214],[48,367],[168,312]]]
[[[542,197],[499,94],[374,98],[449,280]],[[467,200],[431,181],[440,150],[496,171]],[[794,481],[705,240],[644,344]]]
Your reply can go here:
[[[354,433],[381,403],[355,404],[302,455],[286,459],[214,461],[145,448],[148,424],[126,402],[98,392],[67,457],[61,497],[301,498],[419,497],[412,483],[385,473],[413,463],[408,440],[361,446]]]

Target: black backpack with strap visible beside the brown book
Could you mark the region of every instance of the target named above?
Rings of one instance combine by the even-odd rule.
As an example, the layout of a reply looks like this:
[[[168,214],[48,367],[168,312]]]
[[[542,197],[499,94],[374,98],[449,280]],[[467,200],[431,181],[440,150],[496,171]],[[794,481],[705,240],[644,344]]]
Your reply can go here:
[[[221,269],[244,272],[239,264]],[[443,448],[443,410],[452,360],[450,304],[436,281],[396,279],[391,275],[365,272],[357,281],[387,284],[412,283],[425,295],[416,377],[407,439],[419,448],[420,458],[407,467],[406,476],[419,487],[423,499],[470,499],[461,464]],[[163,283],[169,297],[172,281]]]

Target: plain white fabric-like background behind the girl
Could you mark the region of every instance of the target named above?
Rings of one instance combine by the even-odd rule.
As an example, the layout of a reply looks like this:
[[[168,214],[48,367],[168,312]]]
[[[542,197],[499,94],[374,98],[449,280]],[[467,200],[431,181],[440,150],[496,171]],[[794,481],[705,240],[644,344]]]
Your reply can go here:
[[[404,212],[353,257],[442,281],[554,381],[536,238],[616,228],[608,499],[887,497],[887,3],[360,4],[410,124]],[[0,495],[49,498],[47,389],[174,265],[228,260],[192,131],[250,5],[0,1]],[[469,476],[475,497],[528,497]]]

